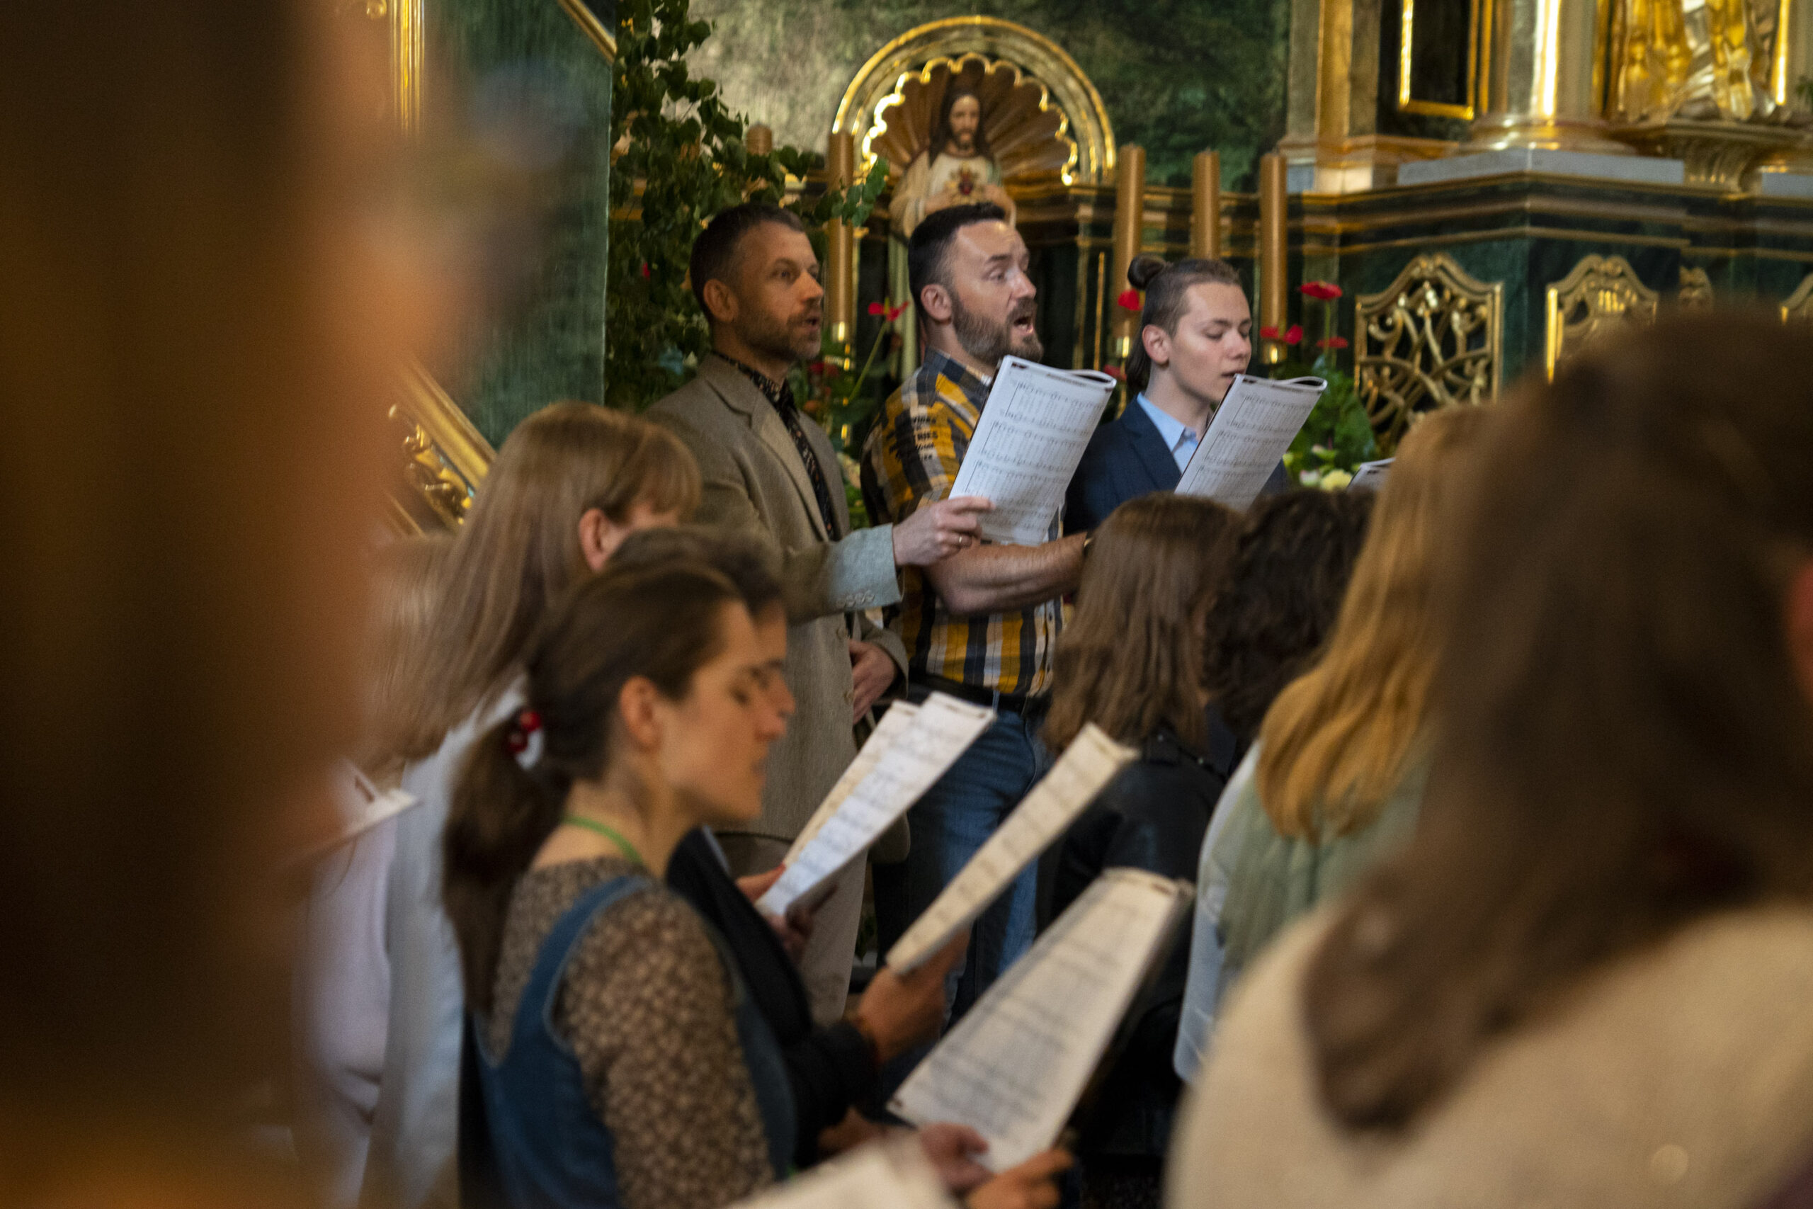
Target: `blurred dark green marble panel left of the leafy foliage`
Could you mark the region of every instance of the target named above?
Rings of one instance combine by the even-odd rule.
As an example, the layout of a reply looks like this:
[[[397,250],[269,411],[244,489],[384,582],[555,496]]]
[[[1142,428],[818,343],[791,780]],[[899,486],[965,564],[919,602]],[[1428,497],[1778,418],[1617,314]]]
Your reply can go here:
[[[607,2],[593,7],[615,20]],[[437,370],[499,444],[549,402],[604,397],[611,65],[555,0],[430,0],[426,16],[424,121],[444,125],[462,178],[479,181],[480,297]],[[497,118],[524,94],[557,118],[537,118],[535,136]],[[564,134],[542,156],[548,127]]]

